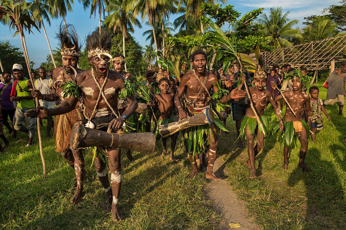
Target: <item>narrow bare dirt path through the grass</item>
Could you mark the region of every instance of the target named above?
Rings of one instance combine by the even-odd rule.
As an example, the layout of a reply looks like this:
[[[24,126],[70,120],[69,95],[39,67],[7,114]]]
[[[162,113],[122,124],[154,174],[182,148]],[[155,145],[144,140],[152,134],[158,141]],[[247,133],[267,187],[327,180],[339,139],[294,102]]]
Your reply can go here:
[[[221,157],[216,159],[213,167],[215,175],[225,178],[224,172],[220,167],[224,164]],[[218,229],[232,229],[229,223],[239,223],[242,227],[235,228],[236,230],[258,230],[261,229],[255,224],[255,220],[248,218],[247,211],[244,207],[244,202],[237,199],[236,194],[231,187],[227,185],[226,180],[209,182],[204,188],[207,197],[213,200],[215,209],[221,213],[223,220],[220,222]]]

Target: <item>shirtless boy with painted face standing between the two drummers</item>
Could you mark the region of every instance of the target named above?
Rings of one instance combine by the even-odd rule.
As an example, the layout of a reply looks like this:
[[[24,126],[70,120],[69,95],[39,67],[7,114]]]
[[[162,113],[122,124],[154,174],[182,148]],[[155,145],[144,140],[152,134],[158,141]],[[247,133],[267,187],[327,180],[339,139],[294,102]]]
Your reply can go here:
[[[168,124],[173,122],[173,107],[174,107],[174,96],[175,94],[170,92],[171,83],[170,80],[166,77],[161,78],[158,81],[158,87],[160,88],[161,93],[156,94],[154,107],[158,106],[160,110],[160,117],[157,121],[157,129],[156,129],[156,140],[160,140],[161,135],[158,131],[158,127],[163,124]],[[179,160],[174,156],[174,149],[176,140],[178,137],[178,133],[175,133],[170,136],[171,137],[171,154],[170,159],[174,162],[178,162]],[[162,137],[162,156],[166,155],[167,149],[167,138]]]

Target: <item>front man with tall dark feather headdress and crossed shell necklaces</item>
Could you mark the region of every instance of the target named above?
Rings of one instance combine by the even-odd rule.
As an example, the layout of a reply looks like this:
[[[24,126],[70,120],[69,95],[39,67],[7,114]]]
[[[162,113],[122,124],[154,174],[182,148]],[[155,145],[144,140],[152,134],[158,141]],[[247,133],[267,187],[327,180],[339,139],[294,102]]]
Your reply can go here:
[[[111,35],[104,29],[95,30],[86,38],[88,49],[88,60],[92,68],[83,71],[76,76],[78,94],[81,95],[84,124],[86,127],[97,128],[101,131],[118,130],[136,110],[138,103],[133,95],[128,95],[128,106],[122,115],[118,112],[119,91],[125,83],[124,77],[116,71],[109,69],[112,56],[109,54],[111,48]],[[39,116],[47,117],[72,111],[76,106],[79,95],[70,95],[70,98],[53,109],[39,107]],[[36,116],[35,109],[27,113],[27,116]],[[113,220],[123,220],[124,216],[119,209],[119,194],[122,180],[120,164],[120,148],[106,147],[111,171],[111,179],[108,180],[108,170],[103,155],[97,154],[94,158],[95,169],[106,191],[106,198],[102,209],[111,207]],[[102,159],[101,159],[102,157]]]

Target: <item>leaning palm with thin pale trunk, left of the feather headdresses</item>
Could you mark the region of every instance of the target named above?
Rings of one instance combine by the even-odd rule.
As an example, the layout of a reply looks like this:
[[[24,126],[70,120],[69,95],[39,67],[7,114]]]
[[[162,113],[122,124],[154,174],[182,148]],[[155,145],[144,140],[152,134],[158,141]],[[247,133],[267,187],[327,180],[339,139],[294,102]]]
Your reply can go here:
[[[48,5],[46,2],[43,2],[41,0],[35,0],[30,4],[30,10],[37,21],[38,28],[41,28],[41,26],[43,28],[44,35],[46,36],[46,39],[47,39],[49,52],[51,52],[52,62],[53,62],[54,68],[56,68],[51,44],[49,43],[46,28],[44,27],[44,23],[43,23],[43,19],[45,19],[48,22],[48,25],[49,26],[51,25],[51,20],[49,20],[48,13],[47,13]]]

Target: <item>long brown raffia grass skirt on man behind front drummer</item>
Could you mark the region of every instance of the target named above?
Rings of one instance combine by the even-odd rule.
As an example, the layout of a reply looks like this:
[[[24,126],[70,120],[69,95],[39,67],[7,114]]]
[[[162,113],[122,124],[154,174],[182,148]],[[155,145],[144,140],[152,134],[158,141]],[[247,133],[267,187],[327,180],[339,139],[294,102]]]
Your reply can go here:
[[[78,120],[82,120],[82,118],[79,108],[75,108],[69,113],[56,116],[54,122],[56,152],[63,152],[70,148],[72,126]]]

